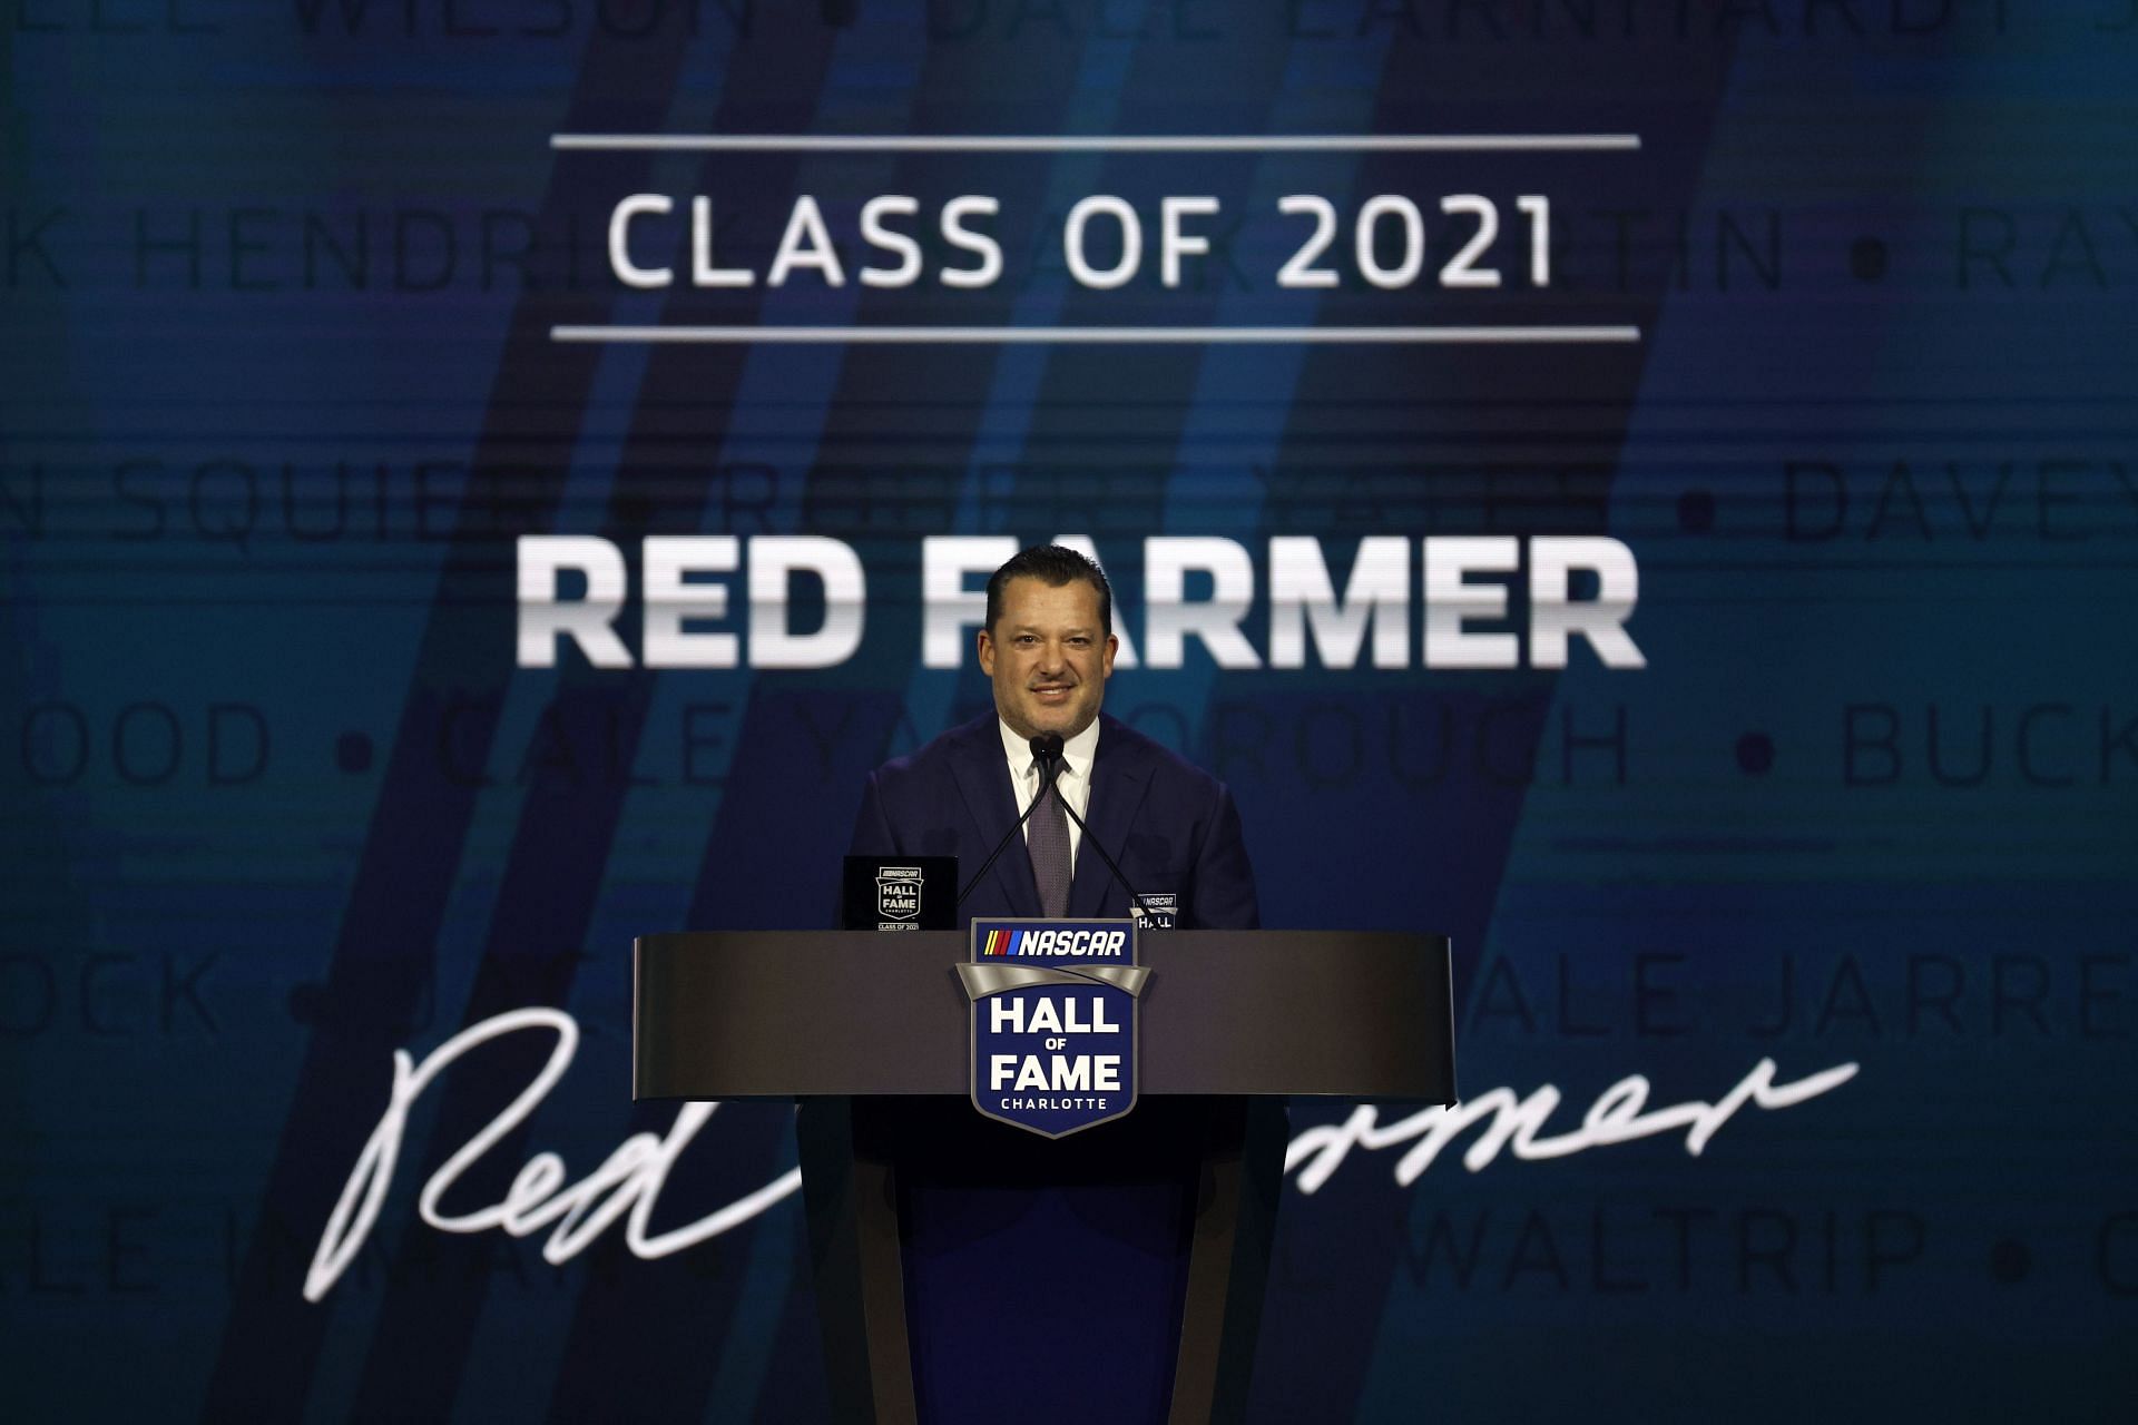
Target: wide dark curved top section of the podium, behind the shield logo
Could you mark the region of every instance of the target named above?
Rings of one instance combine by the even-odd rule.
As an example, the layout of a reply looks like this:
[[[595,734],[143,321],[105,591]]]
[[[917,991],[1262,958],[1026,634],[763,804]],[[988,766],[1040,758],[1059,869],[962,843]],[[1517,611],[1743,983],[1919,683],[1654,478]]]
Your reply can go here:
[[[635,942],[633,1098],[971,1090],[964,931],[701,931]],[[1144,1094],[1454,1102],[1447,940],[1144,931]]]

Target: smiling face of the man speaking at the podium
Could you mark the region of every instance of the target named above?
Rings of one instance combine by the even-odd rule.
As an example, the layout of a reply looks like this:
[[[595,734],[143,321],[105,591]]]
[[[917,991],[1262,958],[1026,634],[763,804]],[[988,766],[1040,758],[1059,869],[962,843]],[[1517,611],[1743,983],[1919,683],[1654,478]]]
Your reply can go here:
[[[1099,628],[1093,585],[1011,579],[994,628],[979,630],[979,671],[994,679],[994,711],[1018,737],[1075,737],[1099,716],[1116,647]]]

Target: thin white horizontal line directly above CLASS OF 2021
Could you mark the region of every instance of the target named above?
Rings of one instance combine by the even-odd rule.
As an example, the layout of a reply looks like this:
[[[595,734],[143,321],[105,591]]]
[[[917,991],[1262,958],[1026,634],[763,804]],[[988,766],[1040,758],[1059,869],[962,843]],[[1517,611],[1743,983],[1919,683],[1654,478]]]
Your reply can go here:
[[[1629,154],[1640,135],[549,135],[554,150],[693,154]]]

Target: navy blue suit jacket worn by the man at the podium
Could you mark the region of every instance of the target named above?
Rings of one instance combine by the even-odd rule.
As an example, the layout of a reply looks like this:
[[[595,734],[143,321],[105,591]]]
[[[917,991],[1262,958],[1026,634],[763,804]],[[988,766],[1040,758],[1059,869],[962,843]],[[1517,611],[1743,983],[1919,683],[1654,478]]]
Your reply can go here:
[[[960,889],[1018,820],[1018,797],[996,716],[956,726],[913,756],[868,773],[853,855],[958,857]],[[1129,893],[1105,870],[1099,840],[1129,884],[1174,893],[1180,929],[1255,929],[1255,870],[1240,840],[1231,793],[1125,722],[1099,714],[1086,833],[1069,884],[1071,917],[1127,917]],[[1018,837],[973,887],[958,925],[973,917],[1037,917],[1033,861]]]

